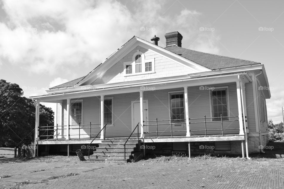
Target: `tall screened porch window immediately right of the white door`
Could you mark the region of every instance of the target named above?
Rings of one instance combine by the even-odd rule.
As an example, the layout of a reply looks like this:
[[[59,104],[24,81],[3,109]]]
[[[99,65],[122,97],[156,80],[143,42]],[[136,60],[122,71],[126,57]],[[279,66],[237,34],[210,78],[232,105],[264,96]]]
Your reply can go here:
[[[173,122],[184,122],[184,95],[183,93],[170,94],[170,115]]]

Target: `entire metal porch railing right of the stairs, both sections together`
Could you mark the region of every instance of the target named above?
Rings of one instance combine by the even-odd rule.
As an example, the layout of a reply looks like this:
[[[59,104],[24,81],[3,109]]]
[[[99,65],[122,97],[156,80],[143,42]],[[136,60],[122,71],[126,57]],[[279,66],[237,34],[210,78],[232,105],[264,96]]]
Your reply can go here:
[[[231,118],[233,118],[233,119],[231,119]],[[197,121],[191,122],[193,120],[197,120]],[[210,131],[210,132],[221,131],[220,134],[218,134],[218,135],[224,136],[224,131],[238,130],[239,129],[239,127],[238,128],[228,128],[235,121],[239,121],[238,116],[223,117],[222,115],[220,115],[220,117],[206,117],[206,115],[204,115],[203,118],[189,118],[189,128],[191,128],[191,126],[194,125],[194,124],[204,123],[204,129],[197,129],[197,130],[190,129],[189,131],[191,133],[192,132],[204,131],[205,136],[208,135],[208,131]],[[227,122],[230,122],[230,124],[229,124],[229,126],[226,125],[225,128],[224,128],[224,123],[227,123]],[[173,120],[172,118],[170,118],[169,120],[158,120],[158,118],[156,118],[156,120],[143,121],[143,123],[144,123],[143,126],[149,126],[151,128],[155,127],[155,130],[156,130],[156,131],[153,131],[153,129],[151,129],[150,132],[144,132],[144,133],[156,133],[157,138],[159,137],[159,133],[170,133],[170,136],[172,137],[173,133],[175,133],[175,132],[186,132],[186,130],[176,130],[176,129],[173,130],[174,125],[186,124],[185,119]],[[145,123],[148,123],[148,124],[145,124]],[[210,123],[220,123],[220,128],[217,128],[218,126],[214,126],[216,128],[208,128],[208,125]],[[201,135],[203,135],[203,134],[201,134]],[[210,134],[210,135],[212,135],[212,134]],[[169,136],[169,135],[164,135],[164,136]]]

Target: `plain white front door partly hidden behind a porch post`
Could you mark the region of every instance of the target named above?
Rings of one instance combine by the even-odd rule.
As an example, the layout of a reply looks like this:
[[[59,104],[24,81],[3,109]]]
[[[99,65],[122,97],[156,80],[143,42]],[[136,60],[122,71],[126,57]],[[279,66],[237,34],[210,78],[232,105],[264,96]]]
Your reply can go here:
[[[133,129],[136,127],[136,125],[138,123],[141,122],[141,119],[140,119],[140,102],[139,101],[135,101],[133,102],[132,104],[132,119],[131,120],[131,123],[132,123],[132,129],[131,131],[133,131]],[[148,104],[147,102],[143,102],[143,120],[146,121],[147,120],[147,110],[148,110]],[[140,123],[141,124],[141,123]],[[141,133],[141,125],[139,124],[139,133]],[[143,124],[143,123],[142,123]],[[147,124],[147,123],[145,123]],[[148,128],[144,127],[144,132],[147,132],[148,131]],[[134,133],[137,133],[137,128],[135,129]]]

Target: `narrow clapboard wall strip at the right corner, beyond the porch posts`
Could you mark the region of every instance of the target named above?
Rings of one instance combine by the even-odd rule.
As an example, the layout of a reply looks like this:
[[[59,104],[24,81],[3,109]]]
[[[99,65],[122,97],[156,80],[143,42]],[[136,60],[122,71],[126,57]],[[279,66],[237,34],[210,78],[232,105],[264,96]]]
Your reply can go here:
[[[256,124],[255,124],[255,112],[254,112],[254,94],[252,82],[246,83],[246,114],[248,120],[248,129],[250,132],[256,132]]]

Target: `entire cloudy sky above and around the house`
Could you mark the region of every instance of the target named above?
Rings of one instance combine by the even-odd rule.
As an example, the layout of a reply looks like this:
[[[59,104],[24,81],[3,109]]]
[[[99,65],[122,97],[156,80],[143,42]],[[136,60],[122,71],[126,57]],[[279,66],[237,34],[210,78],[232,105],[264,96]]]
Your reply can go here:
[[[273,3],[272,3],[273,2]],[[264,64],[268,119],[283,120],[284,1],[0,0],[0,79],[24,96],[85,76],[134,35]],[[45,104],[54,107],[53,104]]]

